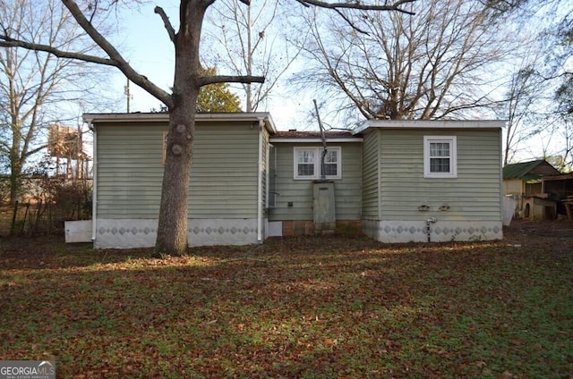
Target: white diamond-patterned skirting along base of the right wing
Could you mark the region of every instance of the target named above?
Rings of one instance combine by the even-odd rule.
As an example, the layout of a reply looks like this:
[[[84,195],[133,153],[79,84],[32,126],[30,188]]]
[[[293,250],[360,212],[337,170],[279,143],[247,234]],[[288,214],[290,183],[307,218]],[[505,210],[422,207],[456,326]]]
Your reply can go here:
[[[363,233],[388,243],[427,242],[425,221],[363,220]],[[501,240],[501,221],[440,221],[430,223],[430,241]]]

